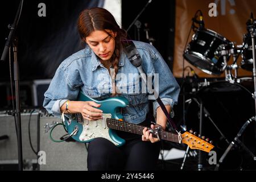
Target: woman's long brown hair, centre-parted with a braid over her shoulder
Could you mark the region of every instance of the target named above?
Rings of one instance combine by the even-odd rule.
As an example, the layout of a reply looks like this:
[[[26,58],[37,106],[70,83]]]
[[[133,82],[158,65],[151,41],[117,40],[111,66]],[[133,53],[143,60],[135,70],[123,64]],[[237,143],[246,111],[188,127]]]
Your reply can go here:
[[[95,30],[112,30],[117,33],[117,36],[114,38],[115,50],[112,59],[110,60],[115,69],[115,75],[117,75],[119,58],[121,56],[123,42],[126,40],[127,34],[125,30],[118,26],[114,16],[108,10],[100,7],[85,9],[79,15],[77,28],[83,42],[85,42],[85,38]],[[106,33],[109,34],[108,32]]]

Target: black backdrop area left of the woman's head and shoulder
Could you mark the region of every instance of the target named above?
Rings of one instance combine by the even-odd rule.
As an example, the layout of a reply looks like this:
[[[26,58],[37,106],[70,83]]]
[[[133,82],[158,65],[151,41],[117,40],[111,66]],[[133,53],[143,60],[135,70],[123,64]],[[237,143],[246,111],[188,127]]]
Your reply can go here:
[[[39,17],[39,3],[46,4],[46,17]],[[13,23],[19,1],[0,2],[2,53],[5,38],[9,34],[7,25]],[[35,0],[24,1],[18,24],[18,61],[20,79],[34,80],[52,78],[57,67],[66,57],[81,49],[76,21],[82,9],[102,6],[104,0]],[[0,63],[1,81],[9,80],[9,63]]]

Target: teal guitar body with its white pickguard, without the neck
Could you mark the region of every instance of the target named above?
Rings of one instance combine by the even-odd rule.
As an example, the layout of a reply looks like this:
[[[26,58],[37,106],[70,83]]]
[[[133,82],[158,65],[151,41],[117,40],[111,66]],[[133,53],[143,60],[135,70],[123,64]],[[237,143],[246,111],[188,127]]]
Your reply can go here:
[[[117,146],[122,146],[125,140],[118,137],[114,130],[110,129],[106,124],[106,118],[113,118],[123,120],[123,116],[120,113],[122,107],[129,105],[129,101],[122,96],[110,97],[105,100],[97,101],[93,98],[86,96],[80,92],[77,98],[79,101],[94,101],[97,104],[101,104],[100,109],[103,111],[103,119],[97,121],[88,121],[82,117],[81,114],[75,114],[72,119],[65,117],[65,127],[69,134],[75,129],[77,130],[75,135],[72,136],[78,142],[90,142],[94,138],[103,137],[109,139]]]

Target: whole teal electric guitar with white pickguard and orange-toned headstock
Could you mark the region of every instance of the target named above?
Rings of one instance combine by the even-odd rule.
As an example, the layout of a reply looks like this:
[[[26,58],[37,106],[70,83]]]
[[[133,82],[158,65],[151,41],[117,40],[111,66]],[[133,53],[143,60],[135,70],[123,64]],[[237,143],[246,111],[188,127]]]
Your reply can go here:
[[[98,119],[97,121],[88,121],[84,119],[81,114],[73,114],[71,118],[64,117],[63,121],[65,128],[76,141],[90,142],[94,138],[102,137],[110,140],[116,146],[122,146],[125,143],[125,140],[118,137],[114,130],[121,130],[139,135],[143,134],[142,131],[145,126],[123,121],[120,109],[129,105],[129,101],[127,101],[125,97],[117,96],[97,101],[80,92],[77,100],[94,101],[97,104],[101,104],[98,109],[101,109],[104,115],[103,119]],[[211,143],[208,143],[202,138],[196,137],[189,132],[181,134],[151,128],[148,128],[148,130],[150,130],[153,137],[159,137],[160,139],[168,140],[170,142],[185,143],[191,149],[209,152],[214,147]]]

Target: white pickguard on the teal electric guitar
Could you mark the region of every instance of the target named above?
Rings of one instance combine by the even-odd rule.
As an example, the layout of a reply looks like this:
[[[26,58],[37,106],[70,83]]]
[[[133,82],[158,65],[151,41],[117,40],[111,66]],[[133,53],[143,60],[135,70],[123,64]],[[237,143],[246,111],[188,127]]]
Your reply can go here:
[[[102,117],[103,119],[98,119],[97,121],[89,121],[84,119],[84,124],[82,125],[82,133],[79,136],[81,141],[102,137],[110,140],[115,145],[118,144],[117,142],[114,142],[112,138],[110,138],[109,128],[106,124],[106,118],[111,118],[111,114],[103,114]]]

